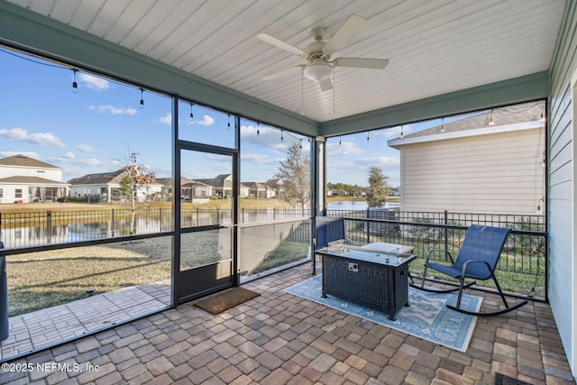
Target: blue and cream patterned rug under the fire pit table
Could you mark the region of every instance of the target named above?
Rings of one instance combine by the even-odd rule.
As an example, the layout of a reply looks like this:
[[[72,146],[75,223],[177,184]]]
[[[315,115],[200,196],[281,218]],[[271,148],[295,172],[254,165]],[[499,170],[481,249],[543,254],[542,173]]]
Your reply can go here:
[[[446,304],[454,305],[456,303],[456,293],[428,293],[409,287],[408,303],[410,307],[401,308],[395,315],[397,320],[391,321],[388,313],[355,305],[330,295],[327,298],[322,298],[321,275],[293,285],[285,291],[460,352],[467,350],[477,322],[476,316],[467,316],[445,307]],[[461,307],[466,310],[479,311],[481,301],[482,298],[480,297],[463,294]]]

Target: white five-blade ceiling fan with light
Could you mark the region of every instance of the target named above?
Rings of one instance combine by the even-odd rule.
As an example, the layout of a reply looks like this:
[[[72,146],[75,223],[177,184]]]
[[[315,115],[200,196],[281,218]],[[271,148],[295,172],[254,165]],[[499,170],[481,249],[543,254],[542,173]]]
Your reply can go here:
[[[301,56],[308,61],[308,64],[301,64],[296,67],[282,70],[276,74],[269,75],[263,80],[279,78],[293,69],[302,69],[306,78],[314,80],[321,87],[321,91],[328,91],[333,88],[331,83],[331,74],[334,67],[350,67],[357,69],[384,69],[389,64],[385,59],[363,59],[363,58],[336,58],[331,60],[334,52],[343,48],[356,33],[360,32],[366,20],[358,14],[352,14],[348,19],[334,32],[328,41],[325,40],[326,30],[323,27],[313,28],[311,35],[315,41],[299,49],[285,41],[280,41],[266,33],[260,33],[256,37],[261,41],[268,42],[282,50]]]

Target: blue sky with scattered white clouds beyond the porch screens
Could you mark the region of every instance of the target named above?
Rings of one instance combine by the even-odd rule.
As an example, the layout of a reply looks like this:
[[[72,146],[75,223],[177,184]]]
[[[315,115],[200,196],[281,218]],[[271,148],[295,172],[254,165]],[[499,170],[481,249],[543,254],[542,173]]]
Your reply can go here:
[[[76,73],[78,92],[73,93],[72,69],[6,49],[0,51],[0,73],[0,157],[22,153],[46,161],[61,167],[67,181],[118,170],[135,151],[138,162],[157,177],[169,177],[172,116],[168,97],[150,91],[141,94],[138,87],[81,71]],[[439,123],[406,124],[403,131],[412,133]],[[181,139],[234,146],[232,116],[183,102],[179,103],[179,126]],[[387,141],[399,133],[400,127],[393,127],[372,131],[369,141],[367,133],[329,138],[327,180],[366,186],[369,167],[377,166],[392,186],[398,186],[399,152],[389,148]],[[300,135],[247,120],[242,121],[241,137],[243,181],[273,178],[291,142],[301,142],[304,154],[310,148]],[[202,154],[190,159],[183,175],[213,178],[230,170],[226,157]]]

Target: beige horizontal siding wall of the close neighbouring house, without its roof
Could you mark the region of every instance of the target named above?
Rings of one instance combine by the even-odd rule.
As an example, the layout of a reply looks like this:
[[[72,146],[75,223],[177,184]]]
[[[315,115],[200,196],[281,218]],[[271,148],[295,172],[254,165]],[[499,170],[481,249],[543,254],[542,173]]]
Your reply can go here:
[[[538,125],[403,145],[401,210],[536,215],[545,196],[545,124]]]

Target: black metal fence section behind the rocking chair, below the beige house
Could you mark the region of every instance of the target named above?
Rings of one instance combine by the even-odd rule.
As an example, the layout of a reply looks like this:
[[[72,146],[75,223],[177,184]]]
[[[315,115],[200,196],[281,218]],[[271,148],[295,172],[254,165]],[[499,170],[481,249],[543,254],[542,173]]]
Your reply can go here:
[[[345,213],[333,213],[331,215]],[[542,215],[484,215],[465,213],[383,212],[382,219],[367,217],[366,211],[347,212],[345,235],[359,243],[384,242],[414,247],[417,260],[411,272],[423,272],[432,249],[446,250],[455,258],[470,225],[491,225],[511,229],[497,267],[501,286],[510,292],[546,298],[547,234]],[[432,260],[448,262],[443,252]],[[436,277],[435,277],[436,278]],[[492,282],[481,283],[492,287]]]

